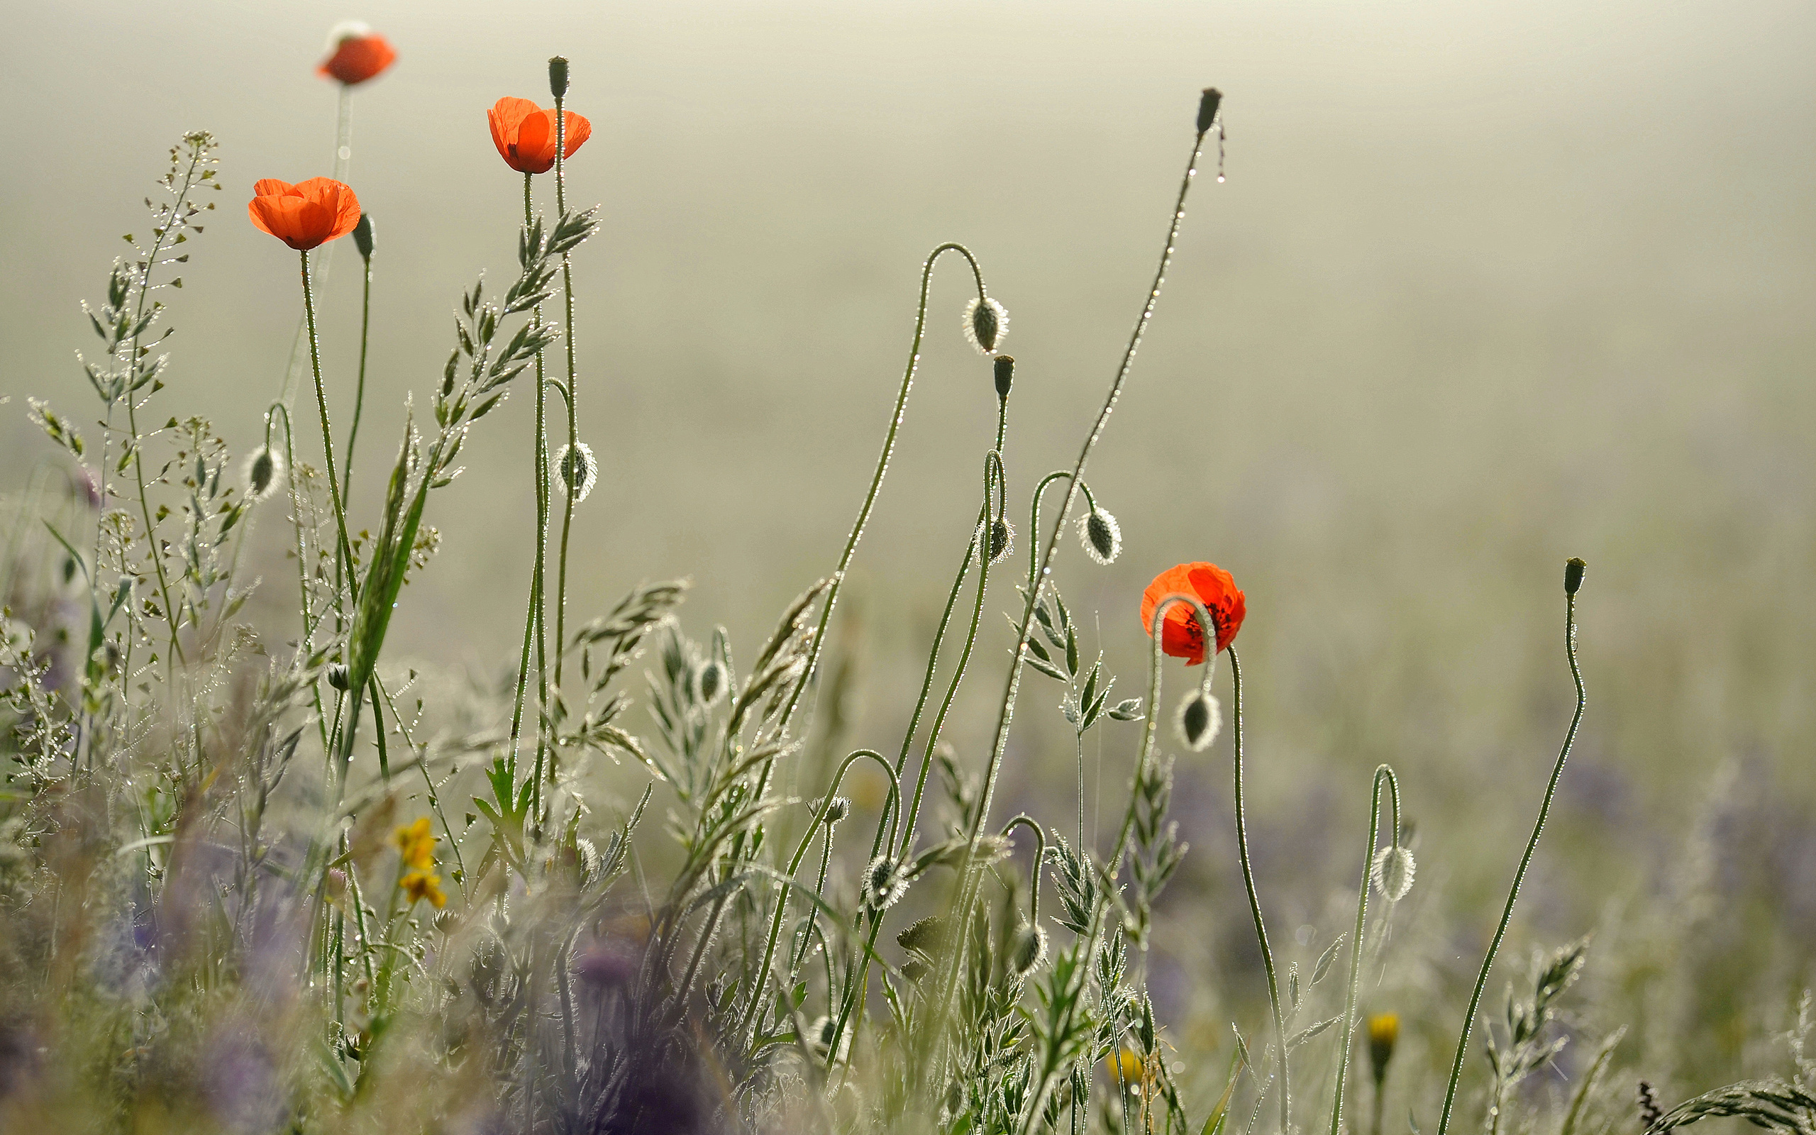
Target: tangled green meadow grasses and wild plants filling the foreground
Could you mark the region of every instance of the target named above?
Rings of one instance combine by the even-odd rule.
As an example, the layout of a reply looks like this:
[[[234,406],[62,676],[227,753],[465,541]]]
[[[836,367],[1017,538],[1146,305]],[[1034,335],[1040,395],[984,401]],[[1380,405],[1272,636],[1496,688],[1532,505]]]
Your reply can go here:
[[[1694,1053],[1649,1073],[1682,1100],[1669,1106],[1651,1088],[1636,1102],[1634,1071],[1669,1050],[1656,1035],[1682,1006],[1633,1022],[1638,1048],[1624,1048],[1627,1022],[1605,1019],[1622,997],[1574,1008],[1598,964],[1620,979],[1674,968],[1651,997],[1691,995],[1698,964],[1674,959],[1667,939],[1700,932],[1694,904],[1711,917],[1720,884],[1709,872],[1685,872],[1682,912],[1611,915],[1593,943],[1507,975],[1500,946],[1587,703],[1580,559],[1564,568],[1554,659],[1574,714],[1558,723],[1549,781],[1536,757],[1531,799],[1482,801],[1536,819],[1522,855],[1505,848],[1513,870],[1493,935],[1464,935],[1467,999],[1444,997],[1433,977],[1460,953],[1458,935],[1420,893],[1431,870],[1415,872],[1418,835],[1402,823],[1418,785],[1387,765],[1340,786],[1358,832],[1367,814],[1364,854],[1346,857],[1333,906],[1342,933],[1304,966],[1278,923],[1269,935],[1244,795],[1244,745],[1266,723],[1244,719],[1233,643],[1228,710],[1217,648],[1186,670],[1184,697],[1162,688],[1168,612],[1184,610],[1200,643],[1235,634],[1228,612],[1204,594],[1159,594],[1139,694],[1124,679],[1113,697],[1119,676],[1086,656],[1062,590],[1130,554],[1088,465],[1117,443],[1108,427],[1204,147],[1220,151],[1215,89],[1188,133],[1159,265],[1102,405],[1070,467],[1030,494],[1026,572],[1002,454],[1012,405],[1039,394],[1017,390],[1013,358],[999,350],[1008,311],[982,263],[943,243],[921,267],[893,412],[843,550],[739,663],[723,628],[688,632],[686,581],[639,583],[568,623],[570,601],[587,601],[568,596],[577,505],[592,496],[608,508],[612,490],[596,490],[574,361],[572,276],[599,222],[568,207],[565,60],[550,84],[554,211],[538,211],[525,174],[523,216],[508,218],[514,274],[503,291],[481,280],[459,294],[439,381],[421,410],[412,401],[389,474],[361,478],[365,496],[350,492],[363,367],[350,405],[331,398],[345,383],[323,374],[311,291],[321,262],[309,251],[298,263],[314,421],[307,410],[292,419],[280,398],[263,445],[234,456],[207,419],[178,416],[205,401],[167,387],[160,352],[167,289],[189,271],[178,249],[203,234],[214,207],[203,198],[220,189],[203,133],[171,151],[151,240],[129,238],[89,312],[98,441],[80,416],[31,407],[65,458],[64,483],[40,478],[5,518],[5,1130],[1340,1135],[1364,1115],[1377,1133],[1404,1122],[1438,1135],[1656,1135],[1707,1119],[1816,1130],[1809,993],[1749,1006],[1756,1079],[1698,1084]],[[369,301],[383,285],[370,218],[352,236]],[[919,692],[904,699],[901,745],[844,750],[832,745],[837,721],[814,726],[815,706],[837,717],[852,672],[828,665],[830,627],[924,338],[952,332],[933,301],[946,258],[968,269],[959,323],[982,356],[977,380],[997,394],[993,443],[977,456],[975,498],[950,503],[966,539],[952,548],[957,568]],[[369,332],[365,320],[361,360]],[[532,418],[494,418],[523,383]],[[387,652],[405,585],[443,545],[436,523],[452,525],[441,490],[481,429],[528,432],[538,510],[523,592],[499,588],[523,610],[523,637],[498,650],[510,672],[498,686]],[[276,632],[240,617],[254,585],[278,588],[243,568],[260,519],[296,572],[294,619]],[[474,536],[461,525],[447,539]],[[1006,659],[979,652],[992,608],[1015,634]],[[966,679],[1002,683],[988,750],[970,757],[948,741]],[[1042,706],[1024,681],[1057,694],[1075,814],[1042,821],[1001,806],[1015,710]],[[1244,973],[1253,990],[1228,997],[1239,1006],[1228,1048],[1213,1048],[1164,1019],[1150,946],[1177,928],[1162,913],[1179,903],[1168,888],[1188,855],[1164,750],[1208,761],[1191,754],[1220,739],[1226,714],[1229,868],[1255,966]],[[1088,735],[1115,770],[1090,801]],[[601,763],[637,770],[636,788],[621,792],[627,777],[599,775]],[[886,785],[875,806],[846,795],[854,768]],[[1111,817],[1113,841],[1086,823],[1088,803]],[[1369,1077],[1351,1059],[1358,1030]],[[1540,1079],[1549,1091],[1535,1090]]]

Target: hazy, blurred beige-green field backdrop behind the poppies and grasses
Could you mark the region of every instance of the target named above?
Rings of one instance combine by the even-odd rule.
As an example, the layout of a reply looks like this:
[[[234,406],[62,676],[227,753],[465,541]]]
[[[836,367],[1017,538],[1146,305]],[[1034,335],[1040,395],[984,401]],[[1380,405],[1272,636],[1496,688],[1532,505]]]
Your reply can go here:
[[[439,376],[461,289],[512,269],[521,180],[485,109],[548,102],[545,60],[563,53],[568,105],[594,127],[570,192],[605,218],[574,262],[581,436],[603,465],[577,514],[574,614],[690,576],[690,634],[723,623],[746,659],[837,559],[935,243],[966,242],[1010,311],[1012,516],[1070,467],[1153,272],[1199,89],[1219,85],[1228,182],[1208,158],[1090,467],[1124,552],[1099,568],[1068,536],[1057,579],[1128,696],[1155,572],[1213,559],[1246,588],[1275,935],[1309,964],[1340,930],[1367,775],[1393,761],[1436,926],[1433,972],[1395,981],[1467,988],[1569,719],[1560,579],[1584,556],[1591,708],[1515,955],[1653,910],[1660,937],[1711,959],[1694,1013],[1716,1048],[1683,1057],[1707,1070],[1743,1062],[1742,1031],[1720,1039],[1749,990],[1809,981],[1809,4],[16,5],[0,42],[0,489],[53,459],[27,394],[93,418],[71,354],[91,334],[80,301],[102,296],[165,149],[198,127],[222,142],[227,191],[167,294],[180,331],[160,405],[256,445],[300,303],[294,256],[243,207],[256,178],[331,173],[336,91],[314,65],[345,16],[400,53],[352,100],[347,180],[378,229],[352,521],[378,514],[405,396]],[[899,745],[970,536],[995,394],[959,334],[966,292],[943,265],[835,623],[846,745]],[[318,296],[345,414],[352,247]],[[300,409],[312,419],[307,396]],[[490,685],[521,636],[530,398],[465,452],[389,650]],[[267,588],[294,570],[285,530],[272,512],[251,552]],[[263,601],[271,639],[294,634],[285,594]],[[992,590],[948,730],[973,765],[1010,643],[995,612],[1015,605],[1008,581]],[[1057,697],[1039,676],[1024,686],[1002,808],[1070,828]],[[1119,810],[1137,728],[1099,735],[1091,785],[1100,761]],[[1175,817],[1197,850],[1148,962],[1213,1048],[1253,1008],[1253,990],[1213,981],[1253,964],[1228,781],[1228,739],[1180,761]],[[1673,906],[1693,884],[1720,899],[1694,917]],[[1643,995],[1645,968],[1624,973]]]

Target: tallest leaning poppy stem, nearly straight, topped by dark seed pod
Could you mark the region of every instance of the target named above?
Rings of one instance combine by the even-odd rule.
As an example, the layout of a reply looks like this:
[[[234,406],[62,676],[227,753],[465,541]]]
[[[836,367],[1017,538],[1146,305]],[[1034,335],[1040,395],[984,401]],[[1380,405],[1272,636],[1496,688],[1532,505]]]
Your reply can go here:
[[[1059,538],[1066,528],[1066,518],[1071,512],[1071,505],[1079,494],[1079,485],[1084,479],[1084,467],[1090,463],[1091,450],[1097,449],[1097,441],[1102,438],[1104,427],[1110,423],[1110,414],[1117,409],[1117,398],[1122,396],[1122,385],[1128,381],[1130,367],[1135,363],[1135,350],[1140,347],[1142,334],[1148,331],[1148,321],[1153,318],[1153,307],[1160,300],[1160,285],[1166,281],[1166,269],[1173,262],[1173,249],[1179,242],[1179,225],[1186,218],[1186,194],[1191,191],[1191,180],[1199,173],[1199,154],[1204,149],[1204,136],[1209,133],[1209,125],[1211,123],[1204,123],[1193,136],[1191,156],[1186,160],[1186,173],[1179,182],[1179,196],[1173,202],[1173,214],[1168,220],[1166,247],[1160,251],[1160,263],[1155,269],[1153,283],[1148,287],[1148,296],[1142,301],[1140,314],[1135,318],[1135,329],[1130,332],[1128,347],[1122,352],[1122,363],[1117,367],[1117,376],[1111,380],[1110,392],[1104,396],[1104,407],[1097,412],[1097,419],[1091,423],[1091,432],[1086,434],[1084,445],[1079,449],[1079,459],[1071,467],[1071,479],[1066,487],[1066,501],[1059,510],[1059,518],[1053,521],[1053,534],[1048,538],[1046,552],[1037,565],[1039,570],[1035,570],[1033,587],[1028,588],[1028,601],[1022,608],[1021,628],[1010,656],[1012,661],[1008,681],[1002,690],[1002,708],[997,714],[997,732],[990,746],[990,766],[984,774],[984,794],[979,801],[977,817],[972,823],[972,855],[966,859],[959,897],[952,908],[953,926],[968,923],[972,917],[972,904],[977,901],[979,872],[973,861],[977,857],[977,844],[984,834],[984,823],[990,819],[990,804],[995,801],[997,777],[1002,772],[1002,754],[1008,748],[1010,725],[1015,719],[1015,696],[1021,692],[1021,676],[1028,656],[1028,636],[1033,632],[1033,608],[1041,603],[1046,574],[1051,570],[1053,556],[1059,552]],[[1030,532],[1028,539],[1035,539],[1035,532]],[[959,972],[955,966],[948,966],[948,979],[944,990],[941,992],[935,1017],[941,1017],[946,1012],[946,1006],[952,1004],[957,986]]]

